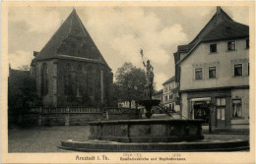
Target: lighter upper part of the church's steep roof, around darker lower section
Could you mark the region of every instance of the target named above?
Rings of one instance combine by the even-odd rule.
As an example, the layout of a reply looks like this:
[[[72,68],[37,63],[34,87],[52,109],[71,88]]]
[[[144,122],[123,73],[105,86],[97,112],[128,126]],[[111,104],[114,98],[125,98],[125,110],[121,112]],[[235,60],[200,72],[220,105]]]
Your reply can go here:
[[[40,52],[34,57],[35,60],[52,59],[58,57],[57,51],[60,45],[68,36],[76,36],[87,39],[88,44],[96,44],[90,36],[88,30],[81,22],[76,10],[74,9],[69,17],[63,22],[63,24],[55,31],[49,41],[44,45]],[[99,50],[96,48],[97,53],[100,56],[100,61],[109,66],[105,62]],[[86,57],[85,57],[86,58]],[[110,68],[109,68],[110,69]]]

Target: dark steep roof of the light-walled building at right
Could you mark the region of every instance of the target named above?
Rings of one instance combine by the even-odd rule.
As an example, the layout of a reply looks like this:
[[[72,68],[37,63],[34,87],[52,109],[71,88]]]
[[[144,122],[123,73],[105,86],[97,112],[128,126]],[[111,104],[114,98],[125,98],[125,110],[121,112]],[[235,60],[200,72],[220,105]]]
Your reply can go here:
[[[201,42],[247,37],[249,37],[249,27],[234,22],[221,7],[217,7],[217,13],[198,35],[189,44],[178,46],[178,52],[188,52],[188,54],[176,64],[184,61]]]

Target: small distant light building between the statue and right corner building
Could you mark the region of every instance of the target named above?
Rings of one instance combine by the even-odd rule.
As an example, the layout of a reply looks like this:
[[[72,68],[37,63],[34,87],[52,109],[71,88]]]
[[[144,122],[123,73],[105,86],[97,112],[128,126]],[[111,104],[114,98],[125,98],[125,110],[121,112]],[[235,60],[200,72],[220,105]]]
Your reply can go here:
[[[171,77],[166,82],[162,83],[162,105],[175,111],[179,111],[178,103],[178,84],[175,82],[175,77]]]

